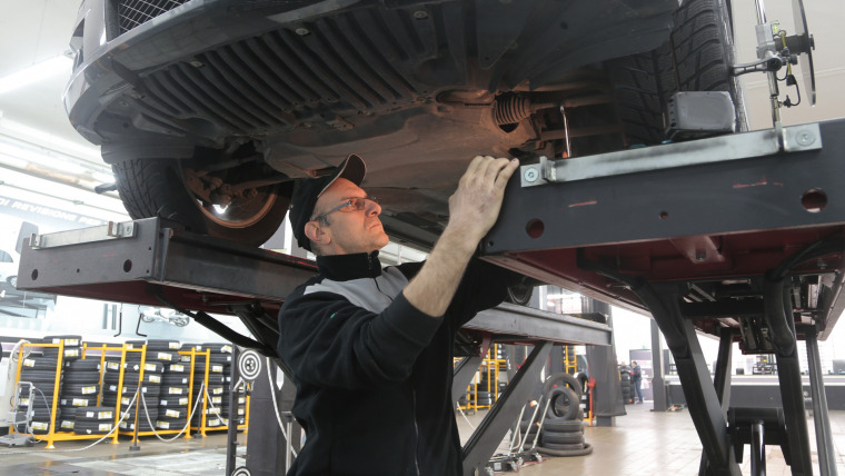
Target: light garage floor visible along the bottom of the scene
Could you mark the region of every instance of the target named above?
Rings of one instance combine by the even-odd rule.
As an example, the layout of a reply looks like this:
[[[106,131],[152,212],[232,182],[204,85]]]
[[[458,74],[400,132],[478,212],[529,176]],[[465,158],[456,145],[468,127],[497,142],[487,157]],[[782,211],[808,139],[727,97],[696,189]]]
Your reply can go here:
[[[592,455],[570,458],[550,458],[525,466],[524,476],[534,475],[594,475],[594,476],[645,476],[645,475],[697,475],[700,444],[689,418],[689,413],[653,413],[648,401],[630,405],[628,415],[617,417],[615,427],[587,427],[585,439],[593,445]],[[466,439],[473,426],[478,425],[485,413],[458,415],[458,426]],[[469,420],[469,422],[467,422]],[[845,476],[845,411],[831,413],[831,426],[836,447],[837,472]],[[813,424],[809,422],[812,447],[815,447]],[[246,439],[239,435],[240,442]],[[84,452],[78,450],[91,442],[58,442],[56,450],[43,446],[31,449],[0,448],[0,476],[225,476],[226,435],[212,434],[206,438],[162,443],[155,437],[141,440],[139,452],[129,450],[129,440],[118,445],[99,444]],[[503,446],[506,448],[506,445]],[[791,475],[779,448],[767,448],[768,475]],[[245,448],[239,448],[242,454]],[[813,454],[816,460],[815,452]],[[237,466],[243,459],[238,458]],[[743,473],[750,474],[747,462]],[[513,473],[503,473],[503,475]],[[818,475],[815,464],[814,474]]]

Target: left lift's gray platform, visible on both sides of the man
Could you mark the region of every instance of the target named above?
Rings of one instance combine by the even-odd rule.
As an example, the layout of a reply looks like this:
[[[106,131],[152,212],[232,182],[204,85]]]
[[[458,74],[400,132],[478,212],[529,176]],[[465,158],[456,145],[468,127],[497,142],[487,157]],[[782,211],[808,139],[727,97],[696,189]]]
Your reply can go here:
[[[18,287],[146,304],[150,297],[140,296],[147,290],[137,285],[148,282],[280,303],[315,274],[308,260],[180,232],[155,218],[133,224],[132,234],[108,239],[103,238],[108,227],[40,236],[41,248],[24,247],[21,254]],[[122,289],[117,295],[116,287],[97,285]],[[196,300],[178,301],[178,295],[170,299],[196,309]],[[507,304],[480,313],[466,327],[519,339],[610,344],[610,328],[605,325]]]

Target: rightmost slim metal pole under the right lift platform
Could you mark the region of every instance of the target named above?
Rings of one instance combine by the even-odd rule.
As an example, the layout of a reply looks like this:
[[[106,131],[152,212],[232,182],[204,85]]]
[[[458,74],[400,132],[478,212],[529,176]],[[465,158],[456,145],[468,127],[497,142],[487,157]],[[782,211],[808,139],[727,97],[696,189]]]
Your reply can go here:
[[[825,395],[824,377],[822,377],[817,335],[818,331],[815,326],[807,326],[804,329],[804,338],[807,345],[807,365],[809,367],[809,393],[813,397],[813,422],[816,426],[818,469],[822,476],[836,476],[831,418],[827,415],[827,396]]]

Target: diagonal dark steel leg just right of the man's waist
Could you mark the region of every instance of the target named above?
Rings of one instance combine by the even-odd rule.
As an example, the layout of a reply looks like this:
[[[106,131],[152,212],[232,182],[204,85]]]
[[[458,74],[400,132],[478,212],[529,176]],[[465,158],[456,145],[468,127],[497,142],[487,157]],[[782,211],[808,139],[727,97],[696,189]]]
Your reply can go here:
[[[539,381],[540,370],[546,366],[551,346],[553,343],[537,343],[514,380],[464,445],[464,476],[475,475],[478,468],[489,463]]]

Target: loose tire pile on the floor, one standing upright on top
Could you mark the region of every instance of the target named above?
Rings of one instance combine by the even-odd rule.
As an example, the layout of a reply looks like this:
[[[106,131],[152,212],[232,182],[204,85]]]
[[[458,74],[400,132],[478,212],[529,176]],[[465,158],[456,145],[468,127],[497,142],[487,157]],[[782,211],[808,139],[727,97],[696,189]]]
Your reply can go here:
[[[593,453],[584,440],[583,388],[569,374],[554,374],[543,386],[546,418],[539,432],[537,450],[548,456],[583,456]]]

